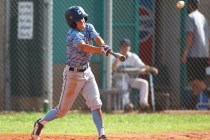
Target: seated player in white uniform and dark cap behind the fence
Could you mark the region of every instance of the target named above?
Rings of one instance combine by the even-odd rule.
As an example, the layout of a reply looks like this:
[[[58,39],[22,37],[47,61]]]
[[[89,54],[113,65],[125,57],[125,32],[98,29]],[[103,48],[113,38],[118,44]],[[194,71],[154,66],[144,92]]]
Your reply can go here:
[[[114,72],[117,72],[121,67],[135,67],[139,69],[145,69],[145,72],[152,72],[154,74],[158,74],[158,69],[155,67],[151,67],[145,65],[138,55],[130,52],[131,42],[129,39],[123,39],[119,45],[120,53],[126,57],[124,62],[121,62],[118,59],[114,59],[112,64],[112,69]],[[149,84],[148,81],[142,78],[135,78],[130,76],[129,74],[120,74],[125,77],[125,81],[131,88],[135,88],[139,90],[139,104],[141,110],[148,110],[148,94],[149,94]],[[115,78],[116,79],[116,78]],[[119,80],[119,79],[118,79]],[[124,89],[125,90],[125,89]],[[129,100],[129,99],[127,99]]]

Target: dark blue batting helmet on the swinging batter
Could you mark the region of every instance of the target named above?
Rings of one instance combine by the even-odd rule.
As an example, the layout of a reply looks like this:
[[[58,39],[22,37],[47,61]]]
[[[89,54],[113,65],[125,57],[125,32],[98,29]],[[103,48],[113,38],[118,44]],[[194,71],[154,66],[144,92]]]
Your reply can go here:
[[[76,28],[76,21],[85,18],[87,21],[88,14],[84,11],[84,9],[80,6],[71,6],[65,12],[66,22],[71,28]]]

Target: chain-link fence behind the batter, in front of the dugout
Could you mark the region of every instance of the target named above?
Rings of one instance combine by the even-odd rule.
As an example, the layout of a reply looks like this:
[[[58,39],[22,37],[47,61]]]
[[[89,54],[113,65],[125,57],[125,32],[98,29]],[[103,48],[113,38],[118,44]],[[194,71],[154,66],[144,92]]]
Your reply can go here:
[[[181,54],[186,42],[187,8],[177,9],[178,0],[2,0],[0,1],[0,110],[31,111],[42,109],[44,99],[50,107],[59,102],[62,72],[66,61],[65,37],[68,30],[65,10],[80,5],[88,13],[88,22],[94,24],[106,40],[107,3],[112,3],[112,49],[119,51],[119,42],[128,38],[131,51],[142,61],[159,69],[153,76],[154,100],[150,88],[149,103],[156,110],[208,109],[208,96],[196,96],[188,82],[186,64]],[[187,2],[187,1],[185,1]],[[200,0],[199,10],[210,21],[210,0]],[[107,108],[107,58],[93,55],[91,67],[101,90],[104,108]],[[195,67],[194,69],[197,69]],[[137,75],[151,82],[148,75]],[[209,86],[208,75],[207,89]],[[112,83],[122,79],[113,79]],[[129,89],[130,101],[139,107],[139,91]],[[202,99],[200,98],[202,96]],[[111,109],[121,98],[110,97]],[[87,109],[80,95],[74,109]]]

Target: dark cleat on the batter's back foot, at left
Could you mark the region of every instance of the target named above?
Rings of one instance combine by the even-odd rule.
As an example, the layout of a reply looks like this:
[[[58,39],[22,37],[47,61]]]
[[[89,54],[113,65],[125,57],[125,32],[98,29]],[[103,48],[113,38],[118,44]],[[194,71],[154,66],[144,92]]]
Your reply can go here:
[[[32,140],[40,140],[41,131],[42,131],[42,129],[44,128],[44,125],[41,124],[41,123],[39,122],[39,120],[41,120],[41,119],[38,119],[38,120],[34,123],[34,129],[33,129],[32,134],[31,134]]]

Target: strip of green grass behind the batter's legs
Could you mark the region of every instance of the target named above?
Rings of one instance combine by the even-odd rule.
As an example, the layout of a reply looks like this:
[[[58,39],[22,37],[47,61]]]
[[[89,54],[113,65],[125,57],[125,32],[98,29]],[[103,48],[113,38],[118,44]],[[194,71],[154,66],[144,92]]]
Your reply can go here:
[[[36,119],[43,113],[1,113],[0,133],[31,133]],[[105,114],[105,131],[109,134],[210,131],[210,115],[193,114]],[[48,123],[44,133],[94,135],[96,129],[90,113],[69,113]]]

